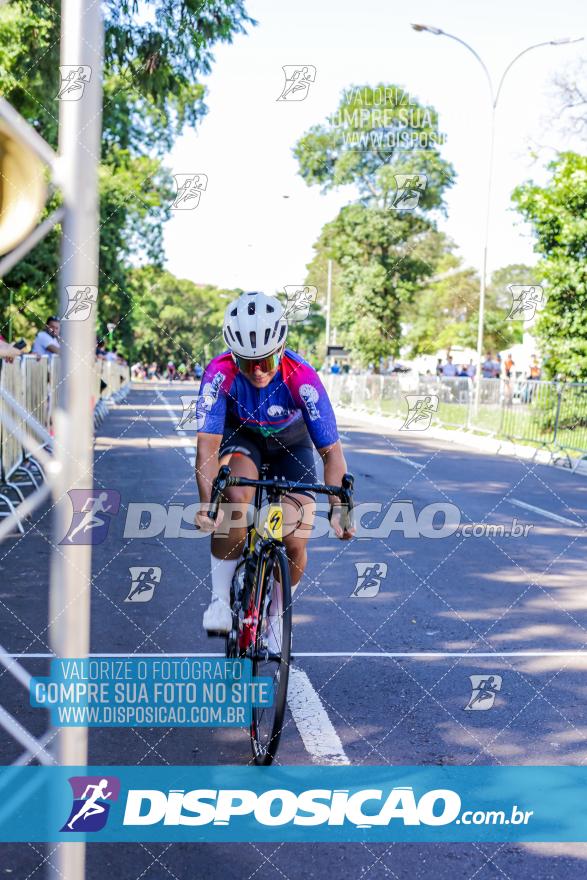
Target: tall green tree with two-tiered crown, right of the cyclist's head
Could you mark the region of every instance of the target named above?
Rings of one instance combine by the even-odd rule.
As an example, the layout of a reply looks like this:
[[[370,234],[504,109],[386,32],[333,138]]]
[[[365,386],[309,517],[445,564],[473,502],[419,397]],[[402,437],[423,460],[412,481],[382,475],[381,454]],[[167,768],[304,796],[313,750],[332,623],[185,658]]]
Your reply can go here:
[[[399,352],[402,311],[434,271],[430,212],[443,209],[454,173],[438,152],[437,128],[436,111],[401,87],[353,86],[294,149],[308,185],[355,187],[357,199],[327,224],[316,247],[320,260],[339,267],[337,326],[363,362]],[[397,201],[398,174],[419,181],[413,209]]]

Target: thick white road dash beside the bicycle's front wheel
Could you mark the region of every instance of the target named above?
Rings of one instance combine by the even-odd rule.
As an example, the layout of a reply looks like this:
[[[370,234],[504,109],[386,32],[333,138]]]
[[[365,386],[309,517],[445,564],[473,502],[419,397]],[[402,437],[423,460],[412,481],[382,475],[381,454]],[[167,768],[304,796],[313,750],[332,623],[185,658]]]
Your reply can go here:
[[[316,764],[350,764],[310,679],[293,666],[289,670],[287,703],[306,751]]]

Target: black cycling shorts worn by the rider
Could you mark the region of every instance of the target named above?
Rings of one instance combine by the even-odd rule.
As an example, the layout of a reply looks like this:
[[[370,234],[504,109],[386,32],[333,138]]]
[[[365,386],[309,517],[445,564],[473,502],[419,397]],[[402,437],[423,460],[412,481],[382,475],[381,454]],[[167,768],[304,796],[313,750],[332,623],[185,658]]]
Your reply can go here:
[[[268,476],[289,480],[292,483],[317,483],[316,465],[314,462],[314,444],[303,425],[304,431],[291,433],[283,440],[279,435],[263,437],[255,431],[243,426],[227,425],[220,443],[220,457],[239,453],[247,455],[255,462],[257,470],[261,465],[269,465]],[[304,433],[305,432],[305,433]],[[300,492],[313,498],[311,492]]]

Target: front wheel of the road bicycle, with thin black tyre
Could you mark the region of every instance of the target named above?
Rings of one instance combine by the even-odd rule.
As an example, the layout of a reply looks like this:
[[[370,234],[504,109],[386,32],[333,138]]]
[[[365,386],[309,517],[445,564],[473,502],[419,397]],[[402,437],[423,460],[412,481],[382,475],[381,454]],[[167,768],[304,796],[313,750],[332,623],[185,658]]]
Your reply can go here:
[[[269,574],[266,566],[263,570],[264,583],[261,585],[253,675],[271,678],[273,704],[252,708],[251,747],[255,764],[260,765],[271,764],[279,746],[287,699],[292,629],[291,583],[283,548],[279,548],[275,554],[272,572]],[[271,607],[268,607],[269,587]],[[268,613],[269,610],[271,614]]]

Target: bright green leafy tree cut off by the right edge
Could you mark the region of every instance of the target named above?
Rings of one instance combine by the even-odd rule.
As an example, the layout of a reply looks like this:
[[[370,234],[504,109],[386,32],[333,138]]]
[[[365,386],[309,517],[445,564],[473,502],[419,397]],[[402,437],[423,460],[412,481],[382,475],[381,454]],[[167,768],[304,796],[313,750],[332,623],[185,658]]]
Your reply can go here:
[[[542,259],[546,305],[533,327],[548,376],[587,379],[587,156],[565,152],[549,163],[546,186],[513,194],[531,223]]]

